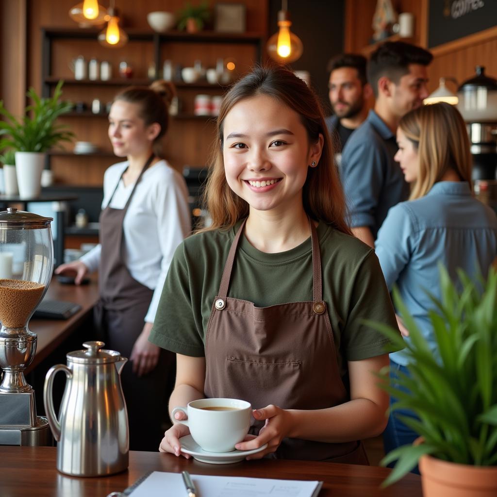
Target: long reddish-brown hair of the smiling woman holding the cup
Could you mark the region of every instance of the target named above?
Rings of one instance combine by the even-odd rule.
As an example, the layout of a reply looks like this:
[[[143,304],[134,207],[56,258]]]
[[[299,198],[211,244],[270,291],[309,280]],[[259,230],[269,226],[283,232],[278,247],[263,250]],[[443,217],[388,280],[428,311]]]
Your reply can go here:
[[[281,66],[255,67],[235,83],[223,98],[204,192],[204,203],[212,218],[212,225],[204,231],[231,228],[248,216],[248,203],[233,192],[226,180],[223,125],[226,116],[238,102],[258,95],[270,96],[299,114],[310,144],[316,143],[319,135],[323,135],[321,159],[316,167],[309,167],[307,171],[302,192],[304,209],[312,219],[351,234],[345,222],[345,199],[319,99],[304,81]]]

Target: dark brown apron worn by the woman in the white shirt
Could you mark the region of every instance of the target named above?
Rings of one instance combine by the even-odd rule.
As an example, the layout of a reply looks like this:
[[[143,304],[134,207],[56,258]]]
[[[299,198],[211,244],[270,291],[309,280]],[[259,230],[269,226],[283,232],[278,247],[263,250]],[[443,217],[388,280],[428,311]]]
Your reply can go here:
[[[123,222],[136,187],[153,159],[152,154],[143,166],[124,208],[114,209],[110,203],[126,172],[123,171],[99,219],[100,299],[94,309],[95,325],[106,348],[117,350],[127,358],[143,330],[154,290],[134,279],[126,267]],[[161,349],[156,368],[145,376],[139,378],[134,374],[129,362],[124,366],[121,381],[128,410],[130,449],[158,449],[167,420],[167,398],[173,387],[174,367],[174,354],[164,349]]]

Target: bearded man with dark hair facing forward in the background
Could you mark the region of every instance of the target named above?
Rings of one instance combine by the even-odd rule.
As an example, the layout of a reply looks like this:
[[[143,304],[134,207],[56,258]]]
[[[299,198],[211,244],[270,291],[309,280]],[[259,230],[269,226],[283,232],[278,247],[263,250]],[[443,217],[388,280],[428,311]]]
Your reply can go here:
[[[366,63],[362,55],[341,54],[328,65],[333,115],[326,118],[326,125],[336,153],[341,153],[345,142],[368,114],[367,100],[372,91],[366,79]]]

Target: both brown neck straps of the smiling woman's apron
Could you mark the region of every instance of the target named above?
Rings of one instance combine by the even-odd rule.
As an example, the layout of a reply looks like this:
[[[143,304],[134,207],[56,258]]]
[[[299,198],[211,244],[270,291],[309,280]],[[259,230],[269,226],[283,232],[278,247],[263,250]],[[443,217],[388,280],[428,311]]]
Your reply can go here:
[[[240,228],[238,229],[235,239],[231,244],[230,252],[228,253],[228,258],[226,259],[226,264],[224,266],[223,277],[221,278],[221,285],[219,286],[219,297],[226,300],[228,296],[228,288],[230,286],[231,273],[233,271],[233,264],[235,262],[235,257],[237,253],[238,244],[240,243],[240,237],[245,228],[245,223],[247,218],[244,219]],[[323,300],[323,280],[321,277],[321,250],[319,248],[318,233],[314,223],[309,218],[309,226],[311,227],[311,247],[312,247],[312,266],[313,266],[313,301],[322,302]]]

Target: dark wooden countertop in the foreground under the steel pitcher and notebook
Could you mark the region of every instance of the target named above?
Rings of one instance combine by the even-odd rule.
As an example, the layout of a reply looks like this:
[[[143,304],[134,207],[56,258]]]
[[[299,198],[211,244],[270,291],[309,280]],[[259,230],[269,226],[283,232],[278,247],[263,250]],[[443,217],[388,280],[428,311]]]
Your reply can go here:
[[[129,470],[109,477],[76,478],[56,469],[55,447],[0,446],[0,495],[5,497],[106,497],[123,491],[149,471],[324,481],[319,497],[419,497],[421,481],[407,475],[391,487],[379,485],[387,468],[310,461],[252,460],[214,465],[159,452],[130,452]],[[186,495],[186,494],[185,494]],[[150,496],[154,497],[154,496]],[[164,497],[170,496],[165,489]],[[210,497],[210,496],[202,496]]]

